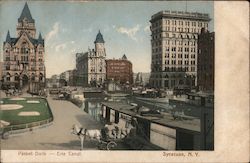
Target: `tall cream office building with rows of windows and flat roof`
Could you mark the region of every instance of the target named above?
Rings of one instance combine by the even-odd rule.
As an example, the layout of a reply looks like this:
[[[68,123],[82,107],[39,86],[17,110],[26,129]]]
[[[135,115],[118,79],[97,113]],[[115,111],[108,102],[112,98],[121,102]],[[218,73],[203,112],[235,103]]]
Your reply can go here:
[[[198,35],[209,21],[208,14],[180,11],[161,11],[151,17],[151,86],[196,86]]]

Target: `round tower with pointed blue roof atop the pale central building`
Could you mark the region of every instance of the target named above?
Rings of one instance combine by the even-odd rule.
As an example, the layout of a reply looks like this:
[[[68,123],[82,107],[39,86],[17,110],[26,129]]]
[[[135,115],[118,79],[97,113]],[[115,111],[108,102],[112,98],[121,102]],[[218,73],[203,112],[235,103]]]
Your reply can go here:
[[[98,34],[96,35],[96,39],[94,43],[95,43],[96,56],[105,57],[106,56],[106,51],[104,47],[105,41],[102,37],[100,30]]]

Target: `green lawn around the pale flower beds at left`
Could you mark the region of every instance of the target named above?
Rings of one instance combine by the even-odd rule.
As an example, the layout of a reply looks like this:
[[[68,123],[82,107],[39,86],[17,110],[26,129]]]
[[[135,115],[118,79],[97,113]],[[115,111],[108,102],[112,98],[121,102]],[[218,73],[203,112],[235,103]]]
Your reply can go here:
[[[11,98],[2,98],[3,104],[17,104],[22,105],[23,108],[17,110],[0,110],[0,119],[7,121],[12,125],[20,125],[31,122],[37,122],[52,118],[48,102],[44,98],[24,97],[25,100],[10,100]],[[39,101],[40,103],[27,103],[28,100]],[[39,116],[19,116],[20,112],[39,112]]]

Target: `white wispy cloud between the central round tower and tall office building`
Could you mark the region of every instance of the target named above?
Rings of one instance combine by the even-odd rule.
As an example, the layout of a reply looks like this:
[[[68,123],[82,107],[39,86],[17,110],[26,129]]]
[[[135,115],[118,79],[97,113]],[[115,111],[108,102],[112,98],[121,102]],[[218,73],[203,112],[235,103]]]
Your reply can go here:
[[[140,30],[140,25],[139,24],[137,24],[133,28],[126,28],[126,27],[118,27],[117,28],[116,26],[113,26],[113,28],[116,28],[116,31],[118,33],[125,34],[129,38],[131,38],[132,40],[137,41],[137,38],[135,37],[135,35]]]

